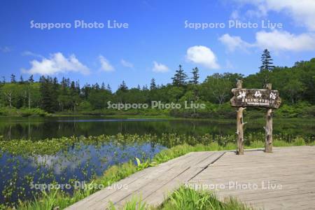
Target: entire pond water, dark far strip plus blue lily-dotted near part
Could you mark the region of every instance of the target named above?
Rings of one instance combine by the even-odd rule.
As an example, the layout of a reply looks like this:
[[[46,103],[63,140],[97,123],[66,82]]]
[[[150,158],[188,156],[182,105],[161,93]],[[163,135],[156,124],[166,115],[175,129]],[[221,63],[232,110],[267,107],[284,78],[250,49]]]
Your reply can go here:
[[[263,119],[248,120],[245,131],[246,141],[255,139],[263,141],[263,125]],[[275,136],[286,141],[291,141],[297,136],[304,137],[305,141],[314,141],[314,128],[315,120],[274,120]],[[18,199],[29,199],[34,197],[34,193],[40,192],[38,188],[34,188],[36,183],[65,184],[71,181],[88,181],[94,176],[101,176],[111,165],[134,161],[135,157],[141,160],[150,159],[162,149],[182,144],[178,141],[160,141],[159,137],[163,134],[177,133],[194,137],[210,134],[211,141],[218,141],[219,144],[234,141],[235,120],[0,118],[0,132],[1,141],[5,144],[11,143],[9,148],[0,148],[0,202],[10,205]],[[102,138],[88,141],[85,139],[85,141],[73,141],[71,146],[64,148],[59,147],[59,141],[70,141],[71,138],[52,139],[118,133],[148,134],[146,137],[148,140],[137,141],[132,136],[129,140],[123,138],[119,141],[115,138],[106,141]],[[22,146],[22,142],[26,145]],[[201,141],[200,143],[207,144]],[[31,148],[34,145],[41,148]],[[71,193],[71,190],[66,191]]]

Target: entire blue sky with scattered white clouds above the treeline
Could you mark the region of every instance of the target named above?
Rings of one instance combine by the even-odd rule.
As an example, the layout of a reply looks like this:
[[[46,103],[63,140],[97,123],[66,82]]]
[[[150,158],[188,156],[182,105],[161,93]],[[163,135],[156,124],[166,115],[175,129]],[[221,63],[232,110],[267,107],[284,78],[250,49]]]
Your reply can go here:
[[[315,2],[312,0],[223,1],[1,1],[0,76],[35,78],[41,74],[84,83],[109,83],[115,90],[151,78],[166,84],[182,64],[212,73],[258,71],[268,48],[277,66],[292,66],[315,52]],[[38,29],[33,23],[70,23],[70,28]],[[75,28],[74,22],[104,23],[104,28]],[[127,23],[109,29],[107,22]],[[283,27],[262,28],[268,20]],[[257,23],[256,28],[228,22]],[[190,25],[185,24],[188,23]],[[195,29],[194,23],[225,24]]]

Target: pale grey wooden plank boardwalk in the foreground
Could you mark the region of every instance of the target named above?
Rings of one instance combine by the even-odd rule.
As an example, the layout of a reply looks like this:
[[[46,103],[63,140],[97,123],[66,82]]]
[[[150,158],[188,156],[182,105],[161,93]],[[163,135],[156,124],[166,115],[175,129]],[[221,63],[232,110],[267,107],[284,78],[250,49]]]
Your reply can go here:
[[[315,209],[315,147],[188,153],[100,190],[67,209],[122,207],[132,196],[159,205],[179,186],[210,189],[259,209]],[[120,186],[125,186],[121,188]]]

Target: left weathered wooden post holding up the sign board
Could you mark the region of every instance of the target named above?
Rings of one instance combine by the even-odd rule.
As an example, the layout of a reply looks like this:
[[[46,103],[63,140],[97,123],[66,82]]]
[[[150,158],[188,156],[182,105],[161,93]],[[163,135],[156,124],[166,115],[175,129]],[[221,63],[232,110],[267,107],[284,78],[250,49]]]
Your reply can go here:
[[[237,89],[241,89],[241,80],[237,80]],[[243,110],[246,108],[239,107],[237,109],[237,155],[244,155],[244,125]]]

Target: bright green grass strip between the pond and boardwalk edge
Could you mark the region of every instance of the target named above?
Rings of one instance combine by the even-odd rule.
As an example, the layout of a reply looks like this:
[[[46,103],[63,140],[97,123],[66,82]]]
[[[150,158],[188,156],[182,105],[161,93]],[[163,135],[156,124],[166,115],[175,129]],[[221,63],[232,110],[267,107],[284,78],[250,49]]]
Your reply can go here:
[[[276,140],[274,141],[274,146],[303,146],[306,145],[304,139],[297,138],[295,141],[290,143]],[[314,142],[311,144],[314,145]],[[246,148],[261,148],[264,146],[262,141],[252,141],[249,146]],[[1,147],[2,148],[2,147]],[[121,165],[113,165],[109,169],[107,169],[103,176],[99,176],[97,179],[91,180],[87,183],[86,188],[84,190],[75,190],[73,195],[69,195],[59,190],[52,190],[50,193],[43,192],[41,197],[37,197],[33,201],[25,201],[20,202],[18,204],[18,209],[53,209],[54,207],[59,207],[60,209],[64,209],[69,205],[82,200],[84,197],[91,195],[97,191],[93,186],[97,186],[102,184],[103,186],[110,186],[112,183],[119,181],[120,179],[124,179],[135,172],[139,172],[142,169],[146,169],[147,167],[152,167],[158,165],[162,162],[167,162],[168,160],[172,160],[173,158],[177,158],[181,155],[185,155],[190,152],[195,151],[222,151],[222,150],[234,150],[236,145],[233,143],[225,144],[224,146],[219,145],[217,142],[212,142],[211,144],[203,145],[196,144],[195,146],[190,146],[188,144],[174,146],[169,149],[165,149],[155,155],[152,160],[146,160],[141,162],[141,160],[137,160],[137,165],[134,164],[132,160],[129,162],[125,162]],[[182,193],[186,193],[184,190]],[[191,193],[191,192],[190,192]],[[201,194],[204,196],[204,194]],[[215,200],[213,200],[216,202]],[[209,203],[209,202],[207,202]],[[169,204],[165,204],[165,207],[172,207],[172,202]],[[3,209],[6,207],[2,207]]]

